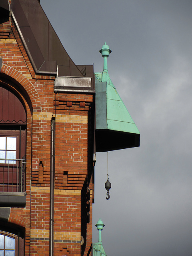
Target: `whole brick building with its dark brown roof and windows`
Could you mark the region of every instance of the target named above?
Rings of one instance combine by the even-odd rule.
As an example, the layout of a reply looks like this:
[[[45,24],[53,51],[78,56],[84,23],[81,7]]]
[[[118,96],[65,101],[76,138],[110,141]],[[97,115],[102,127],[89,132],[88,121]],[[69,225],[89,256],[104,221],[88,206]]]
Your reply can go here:
[[[39,1],[1,0],[0,256],[91,254],[95,145],[139,143],[102,147],[95,94]]]

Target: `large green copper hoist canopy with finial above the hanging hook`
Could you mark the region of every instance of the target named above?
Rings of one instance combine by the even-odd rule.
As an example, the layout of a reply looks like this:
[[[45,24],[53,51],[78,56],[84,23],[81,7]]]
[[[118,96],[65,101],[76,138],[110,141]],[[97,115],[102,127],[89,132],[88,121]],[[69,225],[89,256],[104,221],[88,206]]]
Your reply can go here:
[[[113,85],[107,68],[111,52],[105,44],[100,50],[104,68],[95,74],[96,88],[96,151],[104,152],[140,145],[140,132]]]

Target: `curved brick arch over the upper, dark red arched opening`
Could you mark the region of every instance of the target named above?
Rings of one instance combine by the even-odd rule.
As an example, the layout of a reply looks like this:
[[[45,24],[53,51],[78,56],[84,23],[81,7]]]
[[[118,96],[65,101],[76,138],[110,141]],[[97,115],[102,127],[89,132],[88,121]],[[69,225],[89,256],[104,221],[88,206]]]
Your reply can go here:
[[[26,90],[28,96],[30,97],[33,110],[36,110],[37,112],[41,111],[41,102],[38,92],[33,84],[21,72],[3,64],[1,73],[6,74],[7,76],[10,76],[12,79],[16,80]]]

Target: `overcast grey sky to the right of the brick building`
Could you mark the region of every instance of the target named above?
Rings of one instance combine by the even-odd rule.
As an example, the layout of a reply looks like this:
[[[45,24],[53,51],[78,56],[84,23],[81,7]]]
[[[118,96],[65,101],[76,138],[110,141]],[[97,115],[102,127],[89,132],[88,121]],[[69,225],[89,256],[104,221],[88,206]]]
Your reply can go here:
[[[192,1],[40,0],[76,64],[110,78],[140,147],[97,153],[93,224],[108,256],[192,255]],[[93,228],[93,242],[98,231]]]

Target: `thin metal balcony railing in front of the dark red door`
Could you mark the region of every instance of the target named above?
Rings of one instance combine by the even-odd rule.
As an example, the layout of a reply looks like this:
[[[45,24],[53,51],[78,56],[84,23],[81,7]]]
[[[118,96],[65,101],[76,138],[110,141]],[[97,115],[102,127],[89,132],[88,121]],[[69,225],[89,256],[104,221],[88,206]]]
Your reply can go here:
[[[25,192],[25,159],[0,158],[0,191]]]

